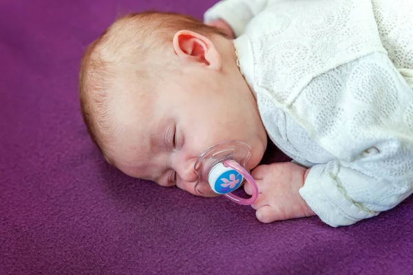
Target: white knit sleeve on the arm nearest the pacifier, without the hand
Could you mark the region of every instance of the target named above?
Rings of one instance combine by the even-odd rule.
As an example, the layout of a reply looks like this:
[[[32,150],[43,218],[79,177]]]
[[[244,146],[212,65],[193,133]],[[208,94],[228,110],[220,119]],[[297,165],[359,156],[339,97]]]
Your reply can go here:
[[[413,192],[413,90],[382,54],[354,64],[335,70],[347,87],[310,115],[319,125],[314,136],[335,157],[310,168],[299,190],[334,227],[390,210]],[[329,109],[339,113],[319,120]]]

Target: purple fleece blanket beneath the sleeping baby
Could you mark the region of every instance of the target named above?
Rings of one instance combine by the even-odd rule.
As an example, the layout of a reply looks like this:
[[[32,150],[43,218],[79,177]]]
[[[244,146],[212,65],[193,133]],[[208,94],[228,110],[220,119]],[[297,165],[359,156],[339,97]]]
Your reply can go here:
[[[413,274],[413,199],[346,228],[262,224],[105,164],[79,111],[85,46],[127,12],[215,2],[1,1],[0,274]]]

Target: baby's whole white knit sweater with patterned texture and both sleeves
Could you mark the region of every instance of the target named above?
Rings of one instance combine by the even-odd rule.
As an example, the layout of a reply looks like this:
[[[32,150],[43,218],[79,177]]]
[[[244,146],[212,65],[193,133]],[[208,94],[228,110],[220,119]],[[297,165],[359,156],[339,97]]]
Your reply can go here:
[[[273,142],[311,167],[299,190],[332,226],[413,192],[413,0],[225,0]],[[404,76],[404,77],[403,77]]]

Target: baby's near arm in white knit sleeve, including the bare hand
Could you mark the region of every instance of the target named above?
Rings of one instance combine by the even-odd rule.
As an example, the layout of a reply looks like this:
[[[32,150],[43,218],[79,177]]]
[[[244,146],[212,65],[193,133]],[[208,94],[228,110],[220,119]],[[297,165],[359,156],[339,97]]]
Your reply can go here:
[[[330,76],[340,85],[313,79],[293,109],[318,127],[312,136],[335,157],[309,170],[292,163],[255,168],[260,221],[315,212],[331,226],[351,225],[413,192],[412,89],[385,54],[364,56]],[[251,194],[248,184],[245,190]]]

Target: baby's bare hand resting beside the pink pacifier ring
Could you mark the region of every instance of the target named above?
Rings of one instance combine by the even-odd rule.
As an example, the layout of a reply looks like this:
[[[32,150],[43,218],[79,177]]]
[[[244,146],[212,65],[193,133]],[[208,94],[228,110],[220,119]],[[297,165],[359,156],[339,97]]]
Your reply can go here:
[[[251,173],[257,182],[257,201],[252,207],[257,219],[271,223],[284,219],[295,219],[315,215],[306,201],[299,195],[304,185],[306,168],[290,162],[257,166]],[[251,195],[251,186],[246,183],[244,190]]]

